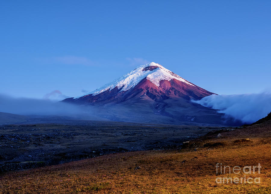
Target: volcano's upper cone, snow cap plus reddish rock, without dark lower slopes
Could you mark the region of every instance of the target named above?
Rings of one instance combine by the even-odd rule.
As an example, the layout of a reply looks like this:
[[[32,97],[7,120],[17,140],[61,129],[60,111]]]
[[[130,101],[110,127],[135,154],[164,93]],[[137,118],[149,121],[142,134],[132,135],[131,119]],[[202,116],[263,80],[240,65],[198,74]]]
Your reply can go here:
[[[155,101],[168,98],[199,100],[213,94],[174,74],[162,65],[148,63],[83,96],[64,101],[75,103],[123,102],[130,98],[149,97]]]

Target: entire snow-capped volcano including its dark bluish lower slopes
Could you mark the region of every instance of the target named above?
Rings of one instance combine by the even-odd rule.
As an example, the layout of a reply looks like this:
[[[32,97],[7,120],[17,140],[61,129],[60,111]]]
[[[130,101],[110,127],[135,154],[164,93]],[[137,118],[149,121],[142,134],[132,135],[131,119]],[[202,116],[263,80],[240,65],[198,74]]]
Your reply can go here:
[[[151,62],[95,91],[63,102],[93,106],[93,114],[115,121],[235,125],[224,114],[193,103],[212,94]]]

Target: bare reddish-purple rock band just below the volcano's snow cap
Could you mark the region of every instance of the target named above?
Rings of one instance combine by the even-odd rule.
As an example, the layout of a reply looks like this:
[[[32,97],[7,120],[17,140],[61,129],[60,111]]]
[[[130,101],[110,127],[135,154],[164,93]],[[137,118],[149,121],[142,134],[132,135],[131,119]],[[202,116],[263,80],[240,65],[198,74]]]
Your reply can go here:
[[[205,96],[213,94],[198,86],[191,86],[176,79],[160,81],[160,86],[153,84],[148,79],[142,79],[135,87],[120,91],[121,88],[114,87],[112,90],[104,91],[97,95],[86,95],[77,99],[68,98],[64,101],[73,101],[80,104],[93,103],[119,103],[127,99],[141,98],[147,96],[154,101],[160,101],[168,98],[183,98],[185,100],[199,100]],[[136,100],[136,99],[134,99]]]

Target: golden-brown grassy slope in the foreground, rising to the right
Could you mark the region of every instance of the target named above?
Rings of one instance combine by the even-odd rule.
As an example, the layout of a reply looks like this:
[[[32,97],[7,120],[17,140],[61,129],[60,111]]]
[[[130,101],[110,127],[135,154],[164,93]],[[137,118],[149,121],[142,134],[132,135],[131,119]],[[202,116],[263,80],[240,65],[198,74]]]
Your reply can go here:
[[[216,138],[221,133],[222,138]],[[1,175],[2,193],[271,193],[271,123],[208,134],[180,150],[109,154]],[[257,166],[260,174],[216,174],[222,166]],[[216,183],[217,177],[260,183]]]

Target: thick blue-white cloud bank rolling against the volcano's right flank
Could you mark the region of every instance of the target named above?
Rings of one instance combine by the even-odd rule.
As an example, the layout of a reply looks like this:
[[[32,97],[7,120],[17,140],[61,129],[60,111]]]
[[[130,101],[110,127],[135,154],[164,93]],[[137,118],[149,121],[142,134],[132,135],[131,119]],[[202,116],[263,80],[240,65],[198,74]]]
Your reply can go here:
[[[271,93],[240,94],[240,95],[210,95],[201,100],[193,101],[204,107],[219,110],[239,119],[246,124],[251,124],[267,116],[271,112]]]

